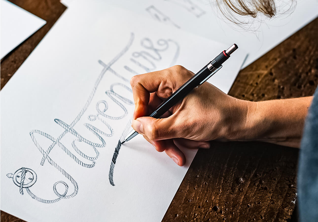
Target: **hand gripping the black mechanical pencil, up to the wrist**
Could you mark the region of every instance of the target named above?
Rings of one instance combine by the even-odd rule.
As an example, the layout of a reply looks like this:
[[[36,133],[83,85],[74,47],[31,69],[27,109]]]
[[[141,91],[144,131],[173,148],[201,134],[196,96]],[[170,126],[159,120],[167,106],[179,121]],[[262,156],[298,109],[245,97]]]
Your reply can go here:
[[[248,101],[233,98],[205,82],[162,118],[147,117],[193,75],[182,66],[173,66],[136,75],[130,81],[135,101],[132,127],[179,166],[186,161],[180,147],[208,149],[210,140],[230,139],[244,124],[247,114]]]

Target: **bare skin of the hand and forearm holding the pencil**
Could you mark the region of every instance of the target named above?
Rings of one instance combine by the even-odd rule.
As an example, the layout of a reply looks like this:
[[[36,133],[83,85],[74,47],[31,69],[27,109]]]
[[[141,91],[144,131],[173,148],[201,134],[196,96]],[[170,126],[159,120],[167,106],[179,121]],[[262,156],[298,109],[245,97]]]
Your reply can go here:
[[[176,164],[183,166],[186,161],[180,147],[209,149],[211,140],[257,140],[299,147],[312,96],[251,102],[205,82],[160,119],[147,117],[193,75],[183,66],[172,66],[136,75],[130,81],[135,101],[132,127]]]

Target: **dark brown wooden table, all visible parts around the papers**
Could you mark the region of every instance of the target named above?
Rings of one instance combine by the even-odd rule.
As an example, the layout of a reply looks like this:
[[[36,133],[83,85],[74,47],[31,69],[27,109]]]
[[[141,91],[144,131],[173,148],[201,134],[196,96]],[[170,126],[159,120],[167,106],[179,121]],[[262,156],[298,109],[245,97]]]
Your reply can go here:
[[[58,0],[12,0],[47,21],[1,60],[1,88],[66,9]],[[260,101],[310,96],[318,83],[318,19],[241,70],[229,94]],[[164,221],[289,221],[298,149],[264,142],[211,142],[199,150]],[[22,221],[1,211],[1,221]]]

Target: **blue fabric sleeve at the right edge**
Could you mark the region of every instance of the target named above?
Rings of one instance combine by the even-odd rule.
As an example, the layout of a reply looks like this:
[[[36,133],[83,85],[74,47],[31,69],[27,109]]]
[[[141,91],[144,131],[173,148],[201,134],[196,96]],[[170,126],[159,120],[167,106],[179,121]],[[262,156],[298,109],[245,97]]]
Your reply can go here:
[[[318,221],[318,88],[308,110],[298,161],[300,221]]]

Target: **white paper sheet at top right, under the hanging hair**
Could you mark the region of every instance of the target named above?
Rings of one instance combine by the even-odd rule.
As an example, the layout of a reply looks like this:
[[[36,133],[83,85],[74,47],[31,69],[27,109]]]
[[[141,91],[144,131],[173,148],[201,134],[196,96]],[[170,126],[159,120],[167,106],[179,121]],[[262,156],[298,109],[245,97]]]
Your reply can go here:
[[[229,21],[220,15],[214,0],[108,0],[108,2],[214,41],[228,44],[235,42],[248,52],[242,68],[318,16],[317,0],[297,0],[295,10],[290,15],[288,12],[286,15],[265,20],[257,31],[251,32],[229,25]],[[75,4],[76,1],[69,4],[69,7]],[[281,6],[282,1],[276,5]]]

